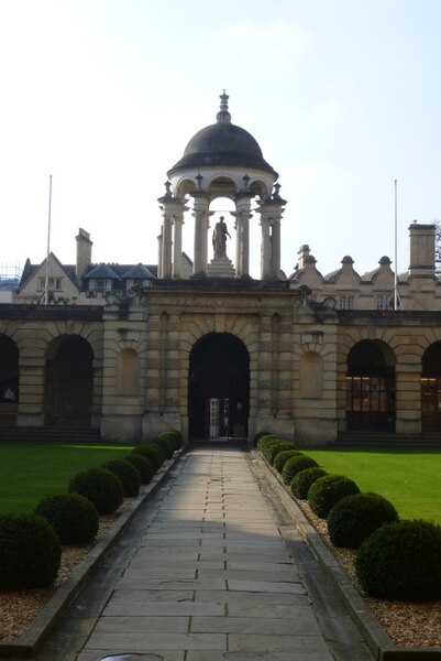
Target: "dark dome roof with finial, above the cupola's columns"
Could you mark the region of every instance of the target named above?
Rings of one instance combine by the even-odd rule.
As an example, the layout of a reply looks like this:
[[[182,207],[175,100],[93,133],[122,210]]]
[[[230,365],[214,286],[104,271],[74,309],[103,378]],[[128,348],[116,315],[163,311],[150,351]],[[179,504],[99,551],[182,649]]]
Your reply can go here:
[[[172,178],[180,171],[207,166],[263,170],[277,178],[278,174],[265,161],[257,141],[251,133],[231,123],[228,95],[220,97],[217,122],[198,131],[187,144],[184,156],[169,171]]]

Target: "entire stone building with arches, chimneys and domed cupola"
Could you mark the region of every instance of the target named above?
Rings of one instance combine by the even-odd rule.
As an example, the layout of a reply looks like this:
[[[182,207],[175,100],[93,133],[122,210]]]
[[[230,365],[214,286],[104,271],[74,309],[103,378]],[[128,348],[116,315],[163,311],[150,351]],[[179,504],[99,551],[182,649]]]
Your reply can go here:
[[[0,304],[0,425],[86,427],[120,442],[172,427],[191,440],[265,430],[305,444],[440,432],[434,226],[410,225],[410,266],[397,277],[387,257],[360,274],[349,256],[322,275],[308,246],[285,274],[278,174],[220,98],[216,123],[168,172],[157,264],[96,264],[84,229],[75,264],[53,253],[26,262]],[[216,214],[219,198],[234,229]]]

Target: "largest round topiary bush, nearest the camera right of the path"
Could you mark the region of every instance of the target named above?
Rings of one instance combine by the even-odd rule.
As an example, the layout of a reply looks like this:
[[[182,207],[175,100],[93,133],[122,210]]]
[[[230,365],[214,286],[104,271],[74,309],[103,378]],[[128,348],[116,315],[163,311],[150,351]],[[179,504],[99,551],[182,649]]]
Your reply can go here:
[[[422,520],[385,523],[361,544],[355,571],[372,597],[441,599],[441,527]]]

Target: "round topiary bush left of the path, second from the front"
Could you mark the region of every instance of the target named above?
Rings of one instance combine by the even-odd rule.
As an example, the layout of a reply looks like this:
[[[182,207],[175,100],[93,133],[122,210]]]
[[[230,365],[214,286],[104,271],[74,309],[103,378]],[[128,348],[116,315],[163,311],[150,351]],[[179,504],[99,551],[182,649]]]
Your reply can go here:
[[[48,496],[38,502],[35,513],[51,523],[62,544],[87,544],[97,537],[97,508],[79,494]]]

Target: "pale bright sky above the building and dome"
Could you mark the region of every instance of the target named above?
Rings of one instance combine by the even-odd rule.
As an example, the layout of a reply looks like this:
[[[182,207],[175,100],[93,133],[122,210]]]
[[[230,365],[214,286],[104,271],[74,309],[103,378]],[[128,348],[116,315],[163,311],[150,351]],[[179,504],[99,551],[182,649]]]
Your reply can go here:
[[[0,264],[43,261],[49,175],[60,261],[82,227],[93,262],[156,263],[166,172],[223,88],[279,173],[287,274],[304,243],[323,274],[394,261],[395,180],[399,272],[441,218],[441,0],[0,0]]]

